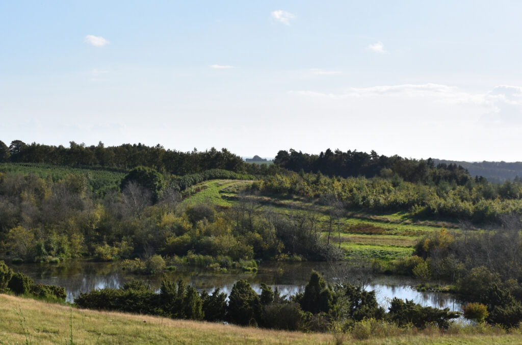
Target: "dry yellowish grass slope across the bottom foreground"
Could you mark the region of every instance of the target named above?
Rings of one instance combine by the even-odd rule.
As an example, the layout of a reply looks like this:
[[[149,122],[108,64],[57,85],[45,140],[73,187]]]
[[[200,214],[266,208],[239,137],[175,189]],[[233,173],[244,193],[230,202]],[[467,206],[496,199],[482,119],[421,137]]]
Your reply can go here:
[[[358,340],[352,334],[265,330],[164,317],[79,310],[69,306],[0,294],[0,344],[515,344],[519,332],[499,328],[455,327],[402,330]],[[482,334],[480,334],[482,333]],[[72,339],[71,339],[72,334]]]

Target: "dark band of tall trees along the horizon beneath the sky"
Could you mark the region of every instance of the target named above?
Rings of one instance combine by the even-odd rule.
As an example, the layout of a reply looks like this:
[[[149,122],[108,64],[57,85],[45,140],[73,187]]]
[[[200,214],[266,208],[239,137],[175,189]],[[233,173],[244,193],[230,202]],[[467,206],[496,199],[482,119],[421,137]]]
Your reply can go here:
[[[43,145],[33,142],[26,144],[13,140],[7,146],[0,141],[0,163],[49,163],[74,167],[99,166],[108,169],[128,171],[136,166],[147,166],[160,172],[174,175],[201,173],[210,169],[228,170],[236,173],[271,175],[288,169],[295,172],[321,172],[333,177],[349,176],[399,176],[401,179],[422,184],[438,184],[441,181],[465,185],[470,179],[468,171],[457,164],[440,163],[435,166],[432,159],[415,160],[400,156],[387,157],[357,150],[332,151],[309,154],[290,149],[281,150],[274,160],[275,165],[245,164],[241,157],[227,149],[182,152],[165,149],[161,145],[123,144],[105,147],[86,146],[70,142],[69,147]]]

